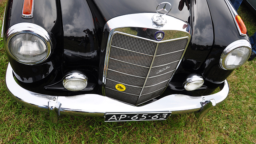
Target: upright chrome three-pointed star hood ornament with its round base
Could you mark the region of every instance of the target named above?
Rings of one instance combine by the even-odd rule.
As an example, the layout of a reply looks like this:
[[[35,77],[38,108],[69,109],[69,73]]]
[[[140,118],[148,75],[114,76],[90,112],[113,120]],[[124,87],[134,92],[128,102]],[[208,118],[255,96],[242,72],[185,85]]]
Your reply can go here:
[[[169,2],[162,2],[158,4],[156,7],[156,13],[154,16],[152,16],[152,21],[158,25],[163,26],[166,24],[166,19],[164,19],[162,16],[168,14],[172,9],[172,5]]]

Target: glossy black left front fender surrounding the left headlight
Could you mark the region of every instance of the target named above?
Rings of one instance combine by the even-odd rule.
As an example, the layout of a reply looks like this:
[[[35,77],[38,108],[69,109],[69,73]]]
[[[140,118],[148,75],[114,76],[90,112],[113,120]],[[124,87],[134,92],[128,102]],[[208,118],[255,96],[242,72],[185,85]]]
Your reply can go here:
[[[41,64],[21,64],[8,56],[19,84],[28,90],[44,93],[45,84],[54,83],[54,80],[62,78],[63,30],[60,3],[58,0],[35,0],[34,17],[30,19],[21,17],[22,0],[9,0],[7,4],[4,33],[14,24],[30,22],[46,29],[52,37],[52,54]]]

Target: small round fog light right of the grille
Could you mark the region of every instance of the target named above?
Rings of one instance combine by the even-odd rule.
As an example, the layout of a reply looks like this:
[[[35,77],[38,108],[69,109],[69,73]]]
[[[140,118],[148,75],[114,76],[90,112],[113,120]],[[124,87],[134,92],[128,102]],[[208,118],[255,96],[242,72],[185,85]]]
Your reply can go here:
[[[204,79],[197,74],[189,75],[187,80],[183,83],[185,90],[192,91],[200,88],[204,84]]]

